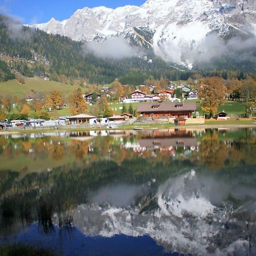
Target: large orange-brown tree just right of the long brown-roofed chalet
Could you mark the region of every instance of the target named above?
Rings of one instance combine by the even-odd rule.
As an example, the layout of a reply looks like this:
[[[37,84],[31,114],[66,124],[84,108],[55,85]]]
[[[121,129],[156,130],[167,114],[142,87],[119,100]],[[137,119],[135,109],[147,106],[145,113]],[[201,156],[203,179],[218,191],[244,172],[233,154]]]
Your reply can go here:
[[[218,105],[225,100],[226,88],[219,77],[207,77],[199,88],[201,109],[212,117],[217,113]]]

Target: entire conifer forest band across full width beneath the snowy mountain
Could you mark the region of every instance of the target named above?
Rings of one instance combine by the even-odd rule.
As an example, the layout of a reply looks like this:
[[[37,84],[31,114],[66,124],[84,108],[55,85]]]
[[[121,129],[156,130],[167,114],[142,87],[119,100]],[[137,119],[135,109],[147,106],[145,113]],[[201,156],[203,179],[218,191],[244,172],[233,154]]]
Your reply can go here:
[[[24,76],[48,76],[55,81],[86,79],[93,84],[108,84],[119,79],[122,84],[142,84],[149,76],[169,80],[187,80],[193,73],[220,76],[224,79],[245,78],[255,74],[255,63],[221,56],[211,63],[195,65],[194,70],[175,66],[156,57],[150,50],[138,57],[107,59],[86,51],[86,42],[75,42],[60,35],[24,27],[15,20],[0,15],[0,80],[13,79],[15,73]],[[152,61],[148,61],[152,60]],[[242,64],[241,64],[242,61]]]

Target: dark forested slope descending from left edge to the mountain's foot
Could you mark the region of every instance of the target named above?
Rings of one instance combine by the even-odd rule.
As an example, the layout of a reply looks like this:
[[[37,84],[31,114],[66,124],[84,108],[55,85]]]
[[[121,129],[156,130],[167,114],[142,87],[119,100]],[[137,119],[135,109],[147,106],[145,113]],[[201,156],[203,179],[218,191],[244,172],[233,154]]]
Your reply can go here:
[[[20,26],[20,28],[19,28]],[[13,27],[18,34],[13,35]],[[122,60],[102,59],[83,51],[84,44],[65,36],[51,35],[0,16],[0,52],[11,69],[24,76],[49,76],[58,80],[83,77],[92,83],[109,83],[119,77],[131,84],[139,84],[149,75],[168,79],[187,79],[191,71],[179,71],[159,57],[148,63],[140,57]],[[152,53],[151,53],[152,54]],[[127,73],[130,77],[127,78]],[[140,79],[141,77],[141,79]]]

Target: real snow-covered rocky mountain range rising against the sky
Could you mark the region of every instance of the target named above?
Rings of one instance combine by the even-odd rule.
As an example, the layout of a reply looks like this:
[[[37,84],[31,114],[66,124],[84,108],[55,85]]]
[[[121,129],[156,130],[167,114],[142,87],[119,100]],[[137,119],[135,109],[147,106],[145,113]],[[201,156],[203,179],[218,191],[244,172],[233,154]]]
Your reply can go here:
[[[104,40],[123,36],[131,44],[154,49],[178,64],[192,64],[198,50],[209,51],[207,35],[230,31],[256,35],[255,0],[147,0],[142,6],[77,10],[69,19],[35,24],[74,40]],[[215,40],[216,41],[216,40]],[[214,42],[215,42],[214,41]],[[218,48],[220,42],[214,43]],[[214,49],[216,52],[216,49]]]

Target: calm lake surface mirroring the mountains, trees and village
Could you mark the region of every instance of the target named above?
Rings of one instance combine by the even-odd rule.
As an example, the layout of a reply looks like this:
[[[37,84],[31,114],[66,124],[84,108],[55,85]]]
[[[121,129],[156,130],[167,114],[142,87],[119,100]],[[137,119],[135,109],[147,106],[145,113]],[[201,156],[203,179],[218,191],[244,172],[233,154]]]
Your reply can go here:
[[[0,243],[256,255],[256,130],[0,136]]]

